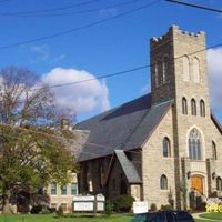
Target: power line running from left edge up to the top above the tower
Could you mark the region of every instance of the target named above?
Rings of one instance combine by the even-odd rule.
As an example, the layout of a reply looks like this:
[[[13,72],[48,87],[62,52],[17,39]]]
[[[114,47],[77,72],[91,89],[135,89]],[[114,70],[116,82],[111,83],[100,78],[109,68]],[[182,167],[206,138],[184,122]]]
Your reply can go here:
[[[113,17],[110,17],[108,19],[102,19],[102,20],[99,20],[99,21],[94,21],[94,22],[91,22],[91,23],[88,23],[88,24],[84,24],[84,26],[81,26],[81,27],[77,27],[77,28],[73,28],[73,29],[69,29],[69,30],[65,30],[65,31],[61,31],[61,32],[57,32],[57,33],[53,33],[53,34],[49,34],[49,36],[44,36],[44,37],[40,37],[40,38],[36,38],[36,39],[30,39],[30,40],[17,42],[17,43],[8,44],[8,46],[1,46],[0,50],[13,48],[13,47],[19,47],[19,46],[28,44],[28,43],[39,42],[39,41],[43,41],[43,40],[47,40],[47,39],[52,39],[52,38],[56,38],[56,37],[73,33],[73,32],[77,32],[77,31],[80,31],[80,30],[83,30],[83,29],[88,29],[88,28],[91,28],[91,27],[95,27],[95,26],[99,26],[101,23],[105,23],[108,21],[111,21],[111,20],[114,20],[114,19],[119,19],[121,17],[125,17],[125,16],[131,14],[133,12],[141,11],[143,9],[147,9],[147,8],[151,7],[151,6],[160,2],[160,1],[161,0],[155,0],[155,1],[151,2],[151,3],[143,4],[143,6],[139,7],[139,8],[132,9],[132,10],[128,10],[128,11],[125,11],[123,13],[118,14],[118,16],[113,16]]]

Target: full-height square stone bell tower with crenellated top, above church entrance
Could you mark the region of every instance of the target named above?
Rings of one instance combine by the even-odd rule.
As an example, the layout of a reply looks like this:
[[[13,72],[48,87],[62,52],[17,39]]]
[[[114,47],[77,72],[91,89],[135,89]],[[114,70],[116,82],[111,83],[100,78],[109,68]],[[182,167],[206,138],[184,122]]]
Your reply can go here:
[[[172,26],[167,34],[152,38],[150,48],[152,105],[173,101],[175,204],[181,209],[186,202],[181,196],[181,181],[190,186],[188,169],[192,173],[191,162],[205,160],[205,148],[211,142],[202,137],[211,128],[205,33],[186,32]],[[200,135],[198,154],[190,152],[192,132]]]

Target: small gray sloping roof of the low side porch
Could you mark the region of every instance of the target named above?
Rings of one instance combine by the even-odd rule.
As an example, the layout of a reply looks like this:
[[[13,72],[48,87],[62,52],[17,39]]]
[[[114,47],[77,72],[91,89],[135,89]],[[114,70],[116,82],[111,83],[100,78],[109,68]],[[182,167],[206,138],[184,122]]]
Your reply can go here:
[[[129,183],[141,183],[141,178],[134,164],[127,158],[123,150],[115,150],[117,158],[122,167]]]

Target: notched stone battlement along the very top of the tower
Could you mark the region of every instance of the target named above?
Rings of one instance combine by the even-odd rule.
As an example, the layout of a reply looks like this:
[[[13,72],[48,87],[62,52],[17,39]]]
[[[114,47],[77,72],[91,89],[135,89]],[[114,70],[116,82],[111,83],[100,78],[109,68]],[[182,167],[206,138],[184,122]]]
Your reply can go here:
[[[198,33],[194,32],[189,32],[189,31],[183,31],[179,28],[179,26],[173,24],[172,27],[169,28],[168,32],[161,37],[152,37],[150,39],[150,43],[152,47],[155,47],[158,44],[161,44],[165,41],[172,40],[174,36],[181,36],[181,37],[189,37],[193,38],[193,40],[201,40],[205,39],[205,32],[204,31],[199,31]]]

